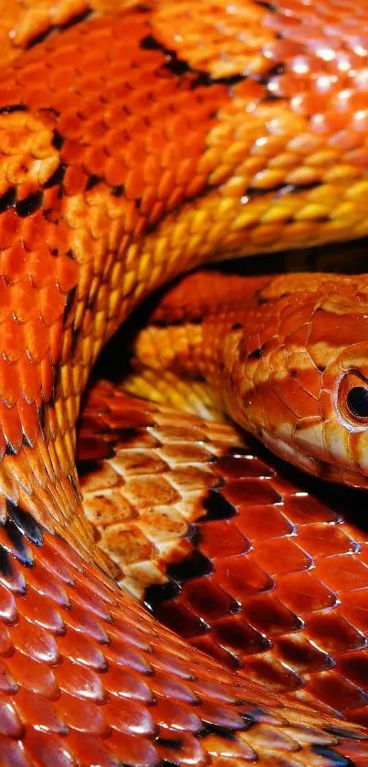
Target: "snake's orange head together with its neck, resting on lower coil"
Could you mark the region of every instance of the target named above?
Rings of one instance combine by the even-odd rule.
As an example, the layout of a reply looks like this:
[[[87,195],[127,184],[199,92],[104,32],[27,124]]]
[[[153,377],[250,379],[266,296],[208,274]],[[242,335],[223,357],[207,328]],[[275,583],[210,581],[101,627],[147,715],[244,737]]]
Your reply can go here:
[[[142,393],[137,377],[148,370],[200,382],[274,453],[367,487],[368,410],[350,405],[357,389],[368,393],[367,338],[365,275],[197,272],[164,296],[137,336],[127,386]]]

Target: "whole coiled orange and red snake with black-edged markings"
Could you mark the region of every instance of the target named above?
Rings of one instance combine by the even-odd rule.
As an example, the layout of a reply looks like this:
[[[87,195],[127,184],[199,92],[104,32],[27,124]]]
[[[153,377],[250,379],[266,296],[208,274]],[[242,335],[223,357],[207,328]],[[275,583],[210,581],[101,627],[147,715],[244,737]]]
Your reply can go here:
[[[363,532],[313,503],[300,474],[283,478],[268,453],[253,454],[235,427],[202,418],[226,410],[273,453],[339,481],[337,498],[343,485],[363,493],[365,275],[200,269],[153,307],[134,342],[128,393],[108,381],[88,396],[86,387],[123,321],[183,272],[368,233],[367,5],[19,0],[1,11],[0,763],[366,765]],[[170,401],[134,399],[155,380],[171,382],[169,400],[197,392],[197,413],[187,421]],[[166,532],[180,483],[201,495],[182,543],[187,553],[201,538],[207,558],[195,549],[192,580],[174,560],[173,580],[152,587],[167,597],[187,580],[186,613],[175,602],[171,628],[170,601],[157,602],[165,626],[112,577],[109,525],[97,530],[119,465],[130,495],[119,490],[115,513],[129,517],[135,487],[136,506],[164,508]],[[141,475],[135,485],[130,472]],[[258,538],[257,556],[243,552],[231,570],[226,546],[237,551],[241,524]],[[298,531],[300,546],[290,538]],[[128,553],[138,535],[135,522]],[[266,549],[273,575],[284,566],[276,599]],[[217,586],[198,570],[211,558]],[[305,572],[301,591],[285,571]],[[190,641],[191,627],[184,638],[172,630],[181,608],[190,616],[191,587],[195,614],[208,617],[211,589],[226,602],[230,581],[265,599],[253,613],[248,605],[256,661],[250,652],[238,668],[218,626],[212,656],[205,633]],[[321,615],[303,624],[309,600]],[[227,602],[227,620],[241,604],[240,595]],[[295,684],[290,694],[278,688],[272,663],[259,684],[257,642],[272,655],[268,631],[289,678],[298,637],[309,642],[321,676],[310,681],[307,669],[304,697]]]

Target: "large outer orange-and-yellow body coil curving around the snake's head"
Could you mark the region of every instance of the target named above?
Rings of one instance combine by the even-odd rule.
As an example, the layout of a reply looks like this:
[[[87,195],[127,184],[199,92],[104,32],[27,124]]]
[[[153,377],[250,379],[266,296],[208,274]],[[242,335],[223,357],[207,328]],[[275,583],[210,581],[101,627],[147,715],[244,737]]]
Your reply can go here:
[[[153,288],[367,232],[364,5],[32,5],[1,5],[0,763],[366,765],[367,730],[118,588],[74,459],[90,368]]]

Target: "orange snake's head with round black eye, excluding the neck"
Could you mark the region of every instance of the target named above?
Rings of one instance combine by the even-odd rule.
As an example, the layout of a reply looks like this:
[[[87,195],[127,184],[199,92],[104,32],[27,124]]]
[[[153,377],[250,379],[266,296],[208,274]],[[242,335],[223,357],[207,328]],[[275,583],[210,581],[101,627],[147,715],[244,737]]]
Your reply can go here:
[[[256,332],[233,338],[237,366],[230,369],[226,407],[290,463],[368,489],[363,282],[363,276],[322,274],[272,280],[250,311]]]

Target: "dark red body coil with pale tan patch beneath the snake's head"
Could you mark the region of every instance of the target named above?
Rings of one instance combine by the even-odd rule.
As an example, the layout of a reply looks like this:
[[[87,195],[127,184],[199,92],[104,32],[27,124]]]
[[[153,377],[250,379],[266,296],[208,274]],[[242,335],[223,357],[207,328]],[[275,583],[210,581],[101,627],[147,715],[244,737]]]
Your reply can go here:
[[[233,426],[107,382],[89,393],[77,456],[111,574],[161,622],[273,691],[368,724],[363,493],[303,481]]]

